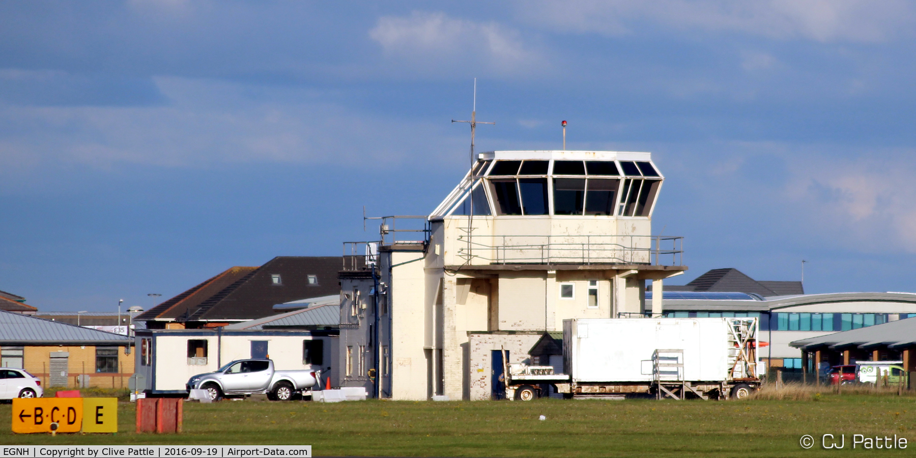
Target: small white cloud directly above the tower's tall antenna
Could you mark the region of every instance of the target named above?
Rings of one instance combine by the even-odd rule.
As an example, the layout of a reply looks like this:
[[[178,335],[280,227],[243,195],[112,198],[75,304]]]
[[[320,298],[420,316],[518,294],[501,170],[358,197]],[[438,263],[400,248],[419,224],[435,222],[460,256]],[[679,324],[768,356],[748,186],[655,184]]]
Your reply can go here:
[[[542,62],[540,53],[530,49],[515,29],[443,13],[380,17],[369,38],[382,46],[388,58],[424,73],[463,69],[518,74]]]

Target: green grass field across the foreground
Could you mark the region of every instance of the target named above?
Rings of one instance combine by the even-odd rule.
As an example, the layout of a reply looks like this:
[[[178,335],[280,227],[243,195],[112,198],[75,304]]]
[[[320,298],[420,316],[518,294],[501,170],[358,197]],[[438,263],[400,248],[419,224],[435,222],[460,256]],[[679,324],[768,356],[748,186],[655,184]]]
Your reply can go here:
[[[916,397],[864,393],[796,390],[788,398],[800,400],[770,393],[741,401],[187,403],[180,435],[134,433],[134,405],[122,402],[122,432],[57,437],[13,434],[5,404],[0,443],[302,444],[318,456],[762,457],[837,453],[820,450],[823,433],[846,434],[846,449],[851,434],[896,433],[910,441],[908,450],[871,452],[916,452]],[[818,445],[803,450],[802,434]]]

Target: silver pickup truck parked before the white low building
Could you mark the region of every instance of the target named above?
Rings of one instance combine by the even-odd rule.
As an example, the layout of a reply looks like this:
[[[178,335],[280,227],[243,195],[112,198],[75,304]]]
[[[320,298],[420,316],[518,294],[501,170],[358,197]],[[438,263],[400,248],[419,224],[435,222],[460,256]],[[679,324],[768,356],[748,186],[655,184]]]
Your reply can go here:
[[[238,359],[216,372],[198,374],[188,380],[187,388],[205,389],[211,400],[224,396],[267,394],[273,400],[289,400],[315,385],[310,370],[278,371],[269,359]]]

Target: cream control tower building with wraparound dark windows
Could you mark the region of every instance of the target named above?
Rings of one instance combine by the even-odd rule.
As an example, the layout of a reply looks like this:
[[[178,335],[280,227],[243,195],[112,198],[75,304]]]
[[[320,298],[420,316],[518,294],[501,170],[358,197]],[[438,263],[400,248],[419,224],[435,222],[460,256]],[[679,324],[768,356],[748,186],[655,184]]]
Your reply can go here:
[[[649,153],[481,153],[429,215],[345,244],[338,380],[378,398],[498,397],[502,351],[529,362],[571,318],[660,316],[646,283],[683,273],[651,234]],[[410,224],[413,224],[412,226]]]

